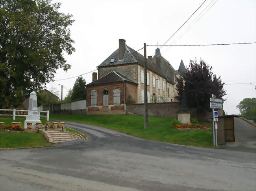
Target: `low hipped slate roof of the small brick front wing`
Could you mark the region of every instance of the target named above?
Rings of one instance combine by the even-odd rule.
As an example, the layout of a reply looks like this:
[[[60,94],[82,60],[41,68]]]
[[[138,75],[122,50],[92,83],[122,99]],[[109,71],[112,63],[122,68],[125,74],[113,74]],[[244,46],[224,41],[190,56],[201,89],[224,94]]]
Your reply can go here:
[[[124,75],[121,75],[118,72],[111,71],[108,74],[106,74],[105,76],[102,76],[98,80],[95,80],[95,81],[91,82],[90,84],[87,84],[86,86],[96,85],[96,84],[106,84],[106,83],[110,83],[110,82],[122,82],[122,81],[127,81],[127,82],[132,82],[134,84],[138,84],[137,82],[130,80],[129,78],[127,78]]]

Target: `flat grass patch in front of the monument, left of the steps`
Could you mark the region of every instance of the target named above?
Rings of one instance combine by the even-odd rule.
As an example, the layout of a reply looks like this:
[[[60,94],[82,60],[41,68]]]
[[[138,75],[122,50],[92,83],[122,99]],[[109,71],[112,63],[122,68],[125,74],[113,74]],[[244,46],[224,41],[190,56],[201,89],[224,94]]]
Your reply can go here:
[[[19,148],[53,145],[40,133],[1,133],[0,148]]]

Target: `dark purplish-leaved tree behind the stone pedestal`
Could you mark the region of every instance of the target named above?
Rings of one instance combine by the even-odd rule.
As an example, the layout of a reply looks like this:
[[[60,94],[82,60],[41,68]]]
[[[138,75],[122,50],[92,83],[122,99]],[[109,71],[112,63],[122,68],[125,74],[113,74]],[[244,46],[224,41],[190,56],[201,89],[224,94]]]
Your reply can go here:
[[[175,98],[181,100],[183,93],[183,80],[185,80],[185,95],[187,98],[187,106],[196,107],[197,113],[202,113],[210,109],[210,97],[212,94],[217,98],[223,98],[227,95],[223,89],[224,83],[221,82],[221,77],[217,77],[211,71],[206,62],[200,60],[190,60],[189,67],[186,68],[186,72],[179,78],[176,78],[177,85],[176,90],[178,96]]]

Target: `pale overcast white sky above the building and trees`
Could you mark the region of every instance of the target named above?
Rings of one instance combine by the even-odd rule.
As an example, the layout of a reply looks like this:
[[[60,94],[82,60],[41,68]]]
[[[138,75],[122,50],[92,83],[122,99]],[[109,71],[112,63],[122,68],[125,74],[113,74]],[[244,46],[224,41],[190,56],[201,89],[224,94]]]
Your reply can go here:
[[[72,55],[65,54],[71,69],[67,73],[59,69],[54,80],[95,70],[118,48],[120,38],[135,50],[142,48],[143,43],[164,44],[203,1],[54,0],[61,3],[60,12],[73,15],[75,22],[70,27],[70,33],[76,48]],[[256,42],[256,0],[206,0],[167,45],[240,42]],[[147,55],[153,55],[155,49],[147,47]],[[139,52],[143,54],[143,50]],[[224,89],[228,95],[224,110],[229,115],[239,114],[236,106],[241,100],[256,97],[256,44],[162,47],[161,55],[176,70],[181,59],[185,66],[195,58],[202,58],[211,65],[213,73],[221,76],[226,83]],[[83,78],[89,84],[92,73],[83,75]],[[46,87],[54,87],[61,94],[58,84],[64,85],[64,98],[75,80],[54,81]],[[251,85],[249,82],[254,83]],[[228,85],[235,83],[247,84]]]

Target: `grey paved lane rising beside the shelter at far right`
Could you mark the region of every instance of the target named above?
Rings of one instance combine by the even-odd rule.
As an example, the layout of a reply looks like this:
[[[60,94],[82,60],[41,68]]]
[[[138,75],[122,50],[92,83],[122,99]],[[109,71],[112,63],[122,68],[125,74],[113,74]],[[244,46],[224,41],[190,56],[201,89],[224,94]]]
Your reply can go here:
[[[256,127],[235,117],[235,142],[226,142],[225,149],[231,151],[256,152]]]

